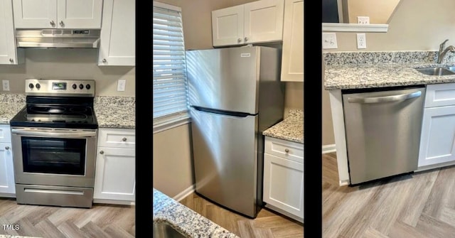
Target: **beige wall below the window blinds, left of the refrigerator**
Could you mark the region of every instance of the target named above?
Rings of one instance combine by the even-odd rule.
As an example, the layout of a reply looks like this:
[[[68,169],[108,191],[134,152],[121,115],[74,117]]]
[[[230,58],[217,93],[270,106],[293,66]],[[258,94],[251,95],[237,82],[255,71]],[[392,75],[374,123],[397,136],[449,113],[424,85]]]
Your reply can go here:
[[[154,134],[154,188],[173,198],[194,184],[190,126],[185,124]]]

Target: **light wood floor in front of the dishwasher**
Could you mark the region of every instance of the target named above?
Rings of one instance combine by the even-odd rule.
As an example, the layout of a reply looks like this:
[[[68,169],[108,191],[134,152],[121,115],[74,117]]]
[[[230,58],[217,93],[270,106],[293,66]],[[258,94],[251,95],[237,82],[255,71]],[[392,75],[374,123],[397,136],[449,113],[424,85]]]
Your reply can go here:
[[[323,155],[323,237],[455,237],[455,167],[338,186],[336,154]]]

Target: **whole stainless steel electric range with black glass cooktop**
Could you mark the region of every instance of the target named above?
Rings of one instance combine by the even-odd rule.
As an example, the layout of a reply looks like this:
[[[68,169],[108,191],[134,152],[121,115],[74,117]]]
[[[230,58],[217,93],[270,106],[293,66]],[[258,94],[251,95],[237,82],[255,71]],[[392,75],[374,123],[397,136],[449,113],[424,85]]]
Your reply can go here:
[[[92,207],[94,97],[94,80],[26,80],[26,107],[10,121],[18,204]]]

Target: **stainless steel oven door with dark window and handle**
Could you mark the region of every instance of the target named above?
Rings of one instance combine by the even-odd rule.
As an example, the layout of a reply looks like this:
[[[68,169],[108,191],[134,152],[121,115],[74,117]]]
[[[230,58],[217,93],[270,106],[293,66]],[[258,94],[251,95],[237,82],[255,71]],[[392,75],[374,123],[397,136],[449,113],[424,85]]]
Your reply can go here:
[[[93,188],[97,130],[11,128],[16,184]]]

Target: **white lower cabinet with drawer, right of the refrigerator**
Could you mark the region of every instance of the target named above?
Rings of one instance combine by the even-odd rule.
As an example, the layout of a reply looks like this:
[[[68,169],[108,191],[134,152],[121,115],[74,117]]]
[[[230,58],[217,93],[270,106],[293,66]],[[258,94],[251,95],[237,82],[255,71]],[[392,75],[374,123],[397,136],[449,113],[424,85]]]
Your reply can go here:
[[[304,222],[304,145],[265,137],[265,207]]]

